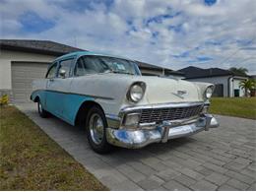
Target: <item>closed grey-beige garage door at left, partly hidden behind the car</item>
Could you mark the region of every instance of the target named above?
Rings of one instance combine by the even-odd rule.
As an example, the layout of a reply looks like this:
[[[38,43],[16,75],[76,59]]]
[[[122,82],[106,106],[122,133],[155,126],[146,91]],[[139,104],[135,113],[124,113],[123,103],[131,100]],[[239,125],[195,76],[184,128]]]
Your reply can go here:
[[[48,63],[12,62],[12,99],[28,102],[32,94],[32,81],[44,78]]]

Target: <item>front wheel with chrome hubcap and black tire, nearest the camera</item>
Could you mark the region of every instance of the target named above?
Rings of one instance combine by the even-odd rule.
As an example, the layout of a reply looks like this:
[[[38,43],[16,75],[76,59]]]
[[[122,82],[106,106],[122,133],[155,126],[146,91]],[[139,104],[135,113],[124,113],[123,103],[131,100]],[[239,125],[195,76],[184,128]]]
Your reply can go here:
[[[99,107],[92,107],[87,116],[87,137],[91,148],[98,154],[110,152],[111,146],[106,141],[107,127],[103,111]]]

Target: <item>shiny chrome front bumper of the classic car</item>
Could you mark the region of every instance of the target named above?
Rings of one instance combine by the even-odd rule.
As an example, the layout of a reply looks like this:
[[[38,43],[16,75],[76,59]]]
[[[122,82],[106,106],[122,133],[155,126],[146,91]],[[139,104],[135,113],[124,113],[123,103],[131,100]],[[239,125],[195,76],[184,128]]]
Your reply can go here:
[[[219,127],[216,118],[211,114],[186,122],[163,122],[154,129],[106,129],[107,142],[123,148],[137,149],[152,143],[164,143],[169,139],[189,136],[209,128]]]

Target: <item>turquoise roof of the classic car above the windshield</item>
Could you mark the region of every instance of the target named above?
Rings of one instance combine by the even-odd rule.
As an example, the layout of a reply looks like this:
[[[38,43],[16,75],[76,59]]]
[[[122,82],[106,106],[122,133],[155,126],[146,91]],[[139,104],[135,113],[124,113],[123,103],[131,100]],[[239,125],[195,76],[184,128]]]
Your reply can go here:
[[[56,58],[53,62],[63,60],[65,58],[69,58],[69,57],[80,57],[80,56],[84,56],[84,55],[107,56],[107,57],[115,57],[115,58],[119,58],[119,59],[126,59],[126,60],[133,61],[132,59],[129,59],[127,57],[116,56],[116,55],[107,54],[107,53],[100,53],[100,52],[93,52],[93,51],[76,51],[76,52],[71,52],[71,53],[62,55],[62,56]]]

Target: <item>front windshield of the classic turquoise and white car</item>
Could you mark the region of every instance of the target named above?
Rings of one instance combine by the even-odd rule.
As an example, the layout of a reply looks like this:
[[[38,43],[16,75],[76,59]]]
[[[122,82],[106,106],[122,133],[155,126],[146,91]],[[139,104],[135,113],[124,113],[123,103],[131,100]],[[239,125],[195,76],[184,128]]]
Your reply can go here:
[[[75,75],[84,76],[95,73],[121,73],[140,75],[135,62],[106,56],[82,56],[78,59]]]

